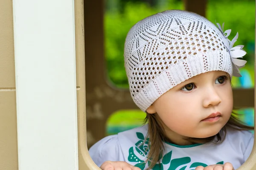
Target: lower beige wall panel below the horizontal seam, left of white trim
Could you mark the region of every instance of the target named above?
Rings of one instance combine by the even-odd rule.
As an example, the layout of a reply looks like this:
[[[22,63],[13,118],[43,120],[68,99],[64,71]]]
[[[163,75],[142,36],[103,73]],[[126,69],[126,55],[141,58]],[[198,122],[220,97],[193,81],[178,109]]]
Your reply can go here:
[[[15,90],[0,90],[0,170],[17,169]]]

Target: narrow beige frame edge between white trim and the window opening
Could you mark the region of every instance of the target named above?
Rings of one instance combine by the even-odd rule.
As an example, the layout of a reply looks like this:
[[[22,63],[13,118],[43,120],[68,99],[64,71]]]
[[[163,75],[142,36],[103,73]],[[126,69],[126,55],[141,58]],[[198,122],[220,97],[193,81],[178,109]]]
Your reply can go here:
[[[79,86],[79,88],[77,88],[79,170],[100,170],[90,157],[87,148],[83,0],[75,0],[75,31],[76,79],[77,86]]]

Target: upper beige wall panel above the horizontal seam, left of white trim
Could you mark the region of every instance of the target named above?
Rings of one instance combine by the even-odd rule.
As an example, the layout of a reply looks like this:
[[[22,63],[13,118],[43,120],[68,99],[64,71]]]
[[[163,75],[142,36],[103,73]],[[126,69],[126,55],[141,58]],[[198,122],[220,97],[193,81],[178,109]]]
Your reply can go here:
[[[0,0],[0,89],[15,88],[12,0]]]

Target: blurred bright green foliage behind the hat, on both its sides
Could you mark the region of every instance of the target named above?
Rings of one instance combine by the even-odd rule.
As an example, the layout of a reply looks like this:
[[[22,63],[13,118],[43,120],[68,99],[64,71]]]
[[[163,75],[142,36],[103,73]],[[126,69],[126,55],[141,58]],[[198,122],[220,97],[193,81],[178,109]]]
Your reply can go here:
[[[184,6],[180,0],[158,0],[154,6],[136,0],[112,0],[111,2],[115,5],[112,4],[113,8],[111,8],[111,3],[107,3],[104,18],[108,79],[115,86],[127,88],[123,52],[129,29],[139,20],[152,14],[169,9],[184,9]],[[245,69],[250,71],[254,80],[255,1],[208,0],[206,17],[212,23],[225,22],[224,30],[232,29],[229,39],[239,32],[235,45],[245,45],[247,55],[244,59],[248,61]],[[238,79],[235,78],[233,84],[237,81]]]

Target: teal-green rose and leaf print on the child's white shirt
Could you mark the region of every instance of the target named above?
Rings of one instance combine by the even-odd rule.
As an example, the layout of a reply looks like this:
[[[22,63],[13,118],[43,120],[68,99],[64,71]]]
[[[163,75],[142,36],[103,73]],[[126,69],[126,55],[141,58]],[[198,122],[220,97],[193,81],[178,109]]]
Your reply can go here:
[[[142,133],[137,132],[136,134],[137,134],[137,137],[140,139],[135,144],[135,150],[137,153],[136,154],[134,153],[134,147],[130,147],[128,161],[138,162],[134,166],[139,167],[141,170],[144,170],[146,162],[138,158],[137,155],[141,155],[145,158],[148,158],[147,157],[148,150],[150,150],[149,138],[145,140],[145,137]],[[167,165],[167,164],[169,164],[169,168],[167,170],[185,170],[186,167],[189,166],[189,163],[191,164],[190,157],[172,159],[172,151],[170,151],[169,153],[166,153],[164,156],[160,155],[159,159],[161,160],[160,161],[161,163],[156,164],[152,168],[152,170],[163,170],[163,165]],[[224,164],[224,161],[218,162],[216,164]],[[148,165],[150,165],[150,161],[148,161]],[[180,166],[182,167],[180,169],[177,169]],[[201,162],[194,162],[189,166],[189,170],[195,170],[195,168],[198,166],[207,167],[208,165]]]

